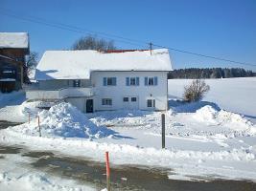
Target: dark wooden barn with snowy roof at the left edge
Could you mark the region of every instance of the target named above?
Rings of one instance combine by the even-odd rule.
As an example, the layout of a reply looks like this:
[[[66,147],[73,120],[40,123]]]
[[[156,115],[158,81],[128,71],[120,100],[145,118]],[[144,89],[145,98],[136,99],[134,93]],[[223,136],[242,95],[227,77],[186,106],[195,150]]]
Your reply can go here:
[[[0,32],[0,91],[22,88],[25,55],[30,53],[27,32]]]

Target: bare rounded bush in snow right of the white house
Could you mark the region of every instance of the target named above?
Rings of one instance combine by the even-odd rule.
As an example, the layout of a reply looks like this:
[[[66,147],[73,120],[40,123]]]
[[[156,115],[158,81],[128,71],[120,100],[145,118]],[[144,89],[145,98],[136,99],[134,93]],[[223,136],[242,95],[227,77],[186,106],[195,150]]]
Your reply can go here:
[[[194,79],[192,83],[184,87],[184,99],[188,102],[201,100],[202,97],[210,90],[210,86],[204,80]]]

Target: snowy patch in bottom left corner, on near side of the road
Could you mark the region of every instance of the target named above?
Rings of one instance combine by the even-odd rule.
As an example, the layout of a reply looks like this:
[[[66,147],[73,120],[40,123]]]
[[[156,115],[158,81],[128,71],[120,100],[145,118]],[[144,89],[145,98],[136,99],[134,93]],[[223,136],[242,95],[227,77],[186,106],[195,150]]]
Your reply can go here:
[[[3,191],[81,191],[96,190],[78,181],[58,178],[30,166],[34,159],[17,154],[0,154],[0,190]]]

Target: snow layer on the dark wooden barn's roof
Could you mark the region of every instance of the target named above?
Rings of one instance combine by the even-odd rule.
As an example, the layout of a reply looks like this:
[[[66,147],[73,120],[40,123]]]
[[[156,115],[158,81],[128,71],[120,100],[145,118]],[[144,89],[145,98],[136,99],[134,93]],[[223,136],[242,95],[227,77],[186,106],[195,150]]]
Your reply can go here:
[[[0,48],[29,48],[27,32],[0,32]]]

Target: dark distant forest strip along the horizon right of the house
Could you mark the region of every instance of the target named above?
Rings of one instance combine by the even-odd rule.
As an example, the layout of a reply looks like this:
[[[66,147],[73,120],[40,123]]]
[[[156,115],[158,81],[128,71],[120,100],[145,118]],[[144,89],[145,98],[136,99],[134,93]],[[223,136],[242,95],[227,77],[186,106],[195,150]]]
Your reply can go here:
[[[252,71],[245,71],[243,68],[190,68],[178,69],[168,74],[169,79],[173,78],[230,78],[256,76]]]

